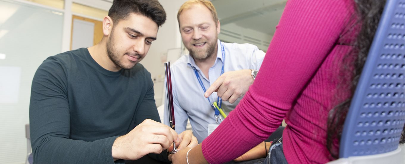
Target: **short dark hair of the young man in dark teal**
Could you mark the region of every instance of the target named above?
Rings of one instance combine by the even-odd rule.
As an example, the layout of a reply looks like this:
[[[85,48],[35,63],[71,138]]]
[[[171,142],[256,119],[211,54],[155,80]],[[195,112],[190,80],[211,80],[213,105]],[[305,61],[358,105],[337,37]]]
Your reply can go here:
[[[131,13],[148,17],[158,26],[162,26],[166,21],[166,12],[158,0],[114,0],[108,16],[113,19],[115,25]]]

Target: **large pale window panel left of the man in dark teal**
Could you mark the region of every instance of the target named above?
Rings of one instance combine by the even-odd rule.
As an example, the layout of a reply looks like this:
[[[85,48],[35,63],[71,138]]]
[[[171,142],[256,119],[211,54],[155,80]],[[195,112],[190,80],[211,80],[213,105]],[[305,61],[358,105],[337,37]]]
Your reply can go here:
[[[25,163],[32,78],[60,53],[62,23],[58,11],[0,0],[0,164]]]

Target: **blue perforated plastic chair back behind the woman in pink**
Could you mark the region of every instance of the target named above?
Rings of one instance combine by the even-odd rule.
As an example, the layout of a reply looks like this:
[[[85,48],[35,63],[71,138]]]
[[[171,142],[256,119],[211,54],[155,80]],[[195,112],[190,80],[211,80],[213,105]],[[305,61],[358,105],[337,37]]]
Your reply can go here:
[[[387,0],[329,164],[405,164],[405,0]]]

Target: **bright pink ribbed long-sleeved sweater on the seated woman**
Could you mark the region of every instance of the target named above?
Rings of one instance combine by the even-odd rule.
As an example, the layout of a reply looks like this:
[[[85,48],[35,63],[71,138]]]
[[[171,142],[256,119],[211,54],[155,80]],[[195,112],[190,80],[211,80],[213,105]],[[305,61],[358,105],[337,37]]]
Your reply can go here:
[[[254,84],[203,141],[205,159],[212,164],[233,160],[286,119],[283,151],[288,163],[330,161],[327,115],[340,101],[337,71],[354,38],[348,32],[353,15],[352,0],[289,0]]]

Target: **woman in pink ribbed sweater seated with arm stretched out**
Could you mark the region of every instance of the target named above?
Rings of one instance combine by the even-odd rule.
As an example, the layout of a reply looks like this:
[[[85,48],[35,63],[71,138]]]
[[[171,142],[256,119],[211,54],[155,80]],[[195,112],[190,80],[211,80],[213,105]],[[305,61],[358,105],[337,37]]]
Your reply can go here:
[[[283,119],[288,125],[282,144],[275,147],[281,152],[276,163],[336,159],[356,87],[352,84],[358,81],[384,4],[289,0],[245,97],[202,144],[172,155],[173,162],[234,160],[271,135]]]

